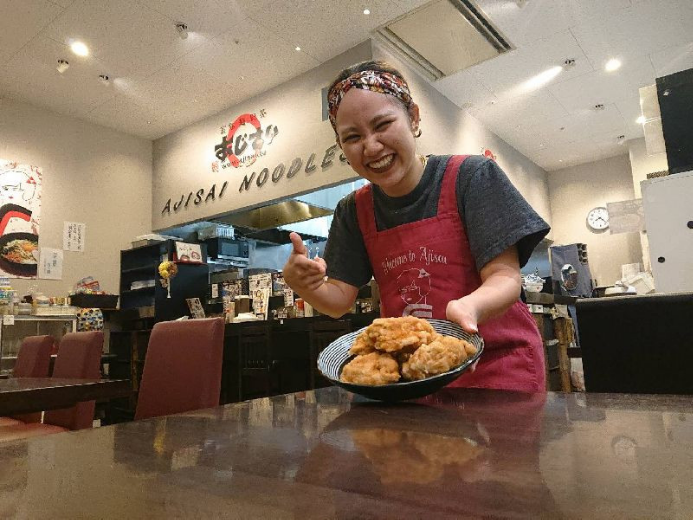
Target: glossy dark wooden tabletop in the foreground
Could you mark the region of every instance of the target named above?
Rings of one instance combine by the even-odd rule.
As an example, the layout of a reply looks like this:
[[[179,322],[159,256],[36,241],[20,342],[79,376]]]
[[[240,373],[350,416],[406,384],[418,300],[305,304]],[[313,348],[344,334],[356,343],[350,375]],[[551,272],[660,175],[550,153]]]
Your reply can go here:
[[[0,516],[691,518],[688,397],[337,388],[0,447]]]

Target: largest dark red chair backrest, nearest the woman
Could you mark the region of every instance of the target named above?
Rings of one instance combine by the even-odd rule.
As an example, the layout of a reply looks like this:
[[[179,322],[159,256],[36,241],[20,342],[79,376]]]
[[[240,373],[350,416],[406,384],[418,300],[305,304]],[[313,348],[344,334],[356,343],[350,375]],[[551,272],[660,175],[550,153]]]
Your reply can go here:
[[[218,406],[223,343],[223,318],[154,325],[135,419]]]

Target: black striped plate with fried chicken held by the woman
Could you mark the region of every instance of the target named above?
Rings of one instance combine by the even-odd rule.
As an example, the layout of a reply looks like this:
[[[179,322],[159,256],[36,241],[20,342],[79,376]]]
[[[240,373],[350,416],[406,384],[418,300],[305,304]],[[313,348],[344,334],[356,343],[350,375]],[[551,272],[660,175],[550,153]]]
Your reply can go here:
[[[380,401],[416,399],[462,375],[484,341],[456,323],[414,316],[378,318],[330,343],[318,369],[333,384]]]

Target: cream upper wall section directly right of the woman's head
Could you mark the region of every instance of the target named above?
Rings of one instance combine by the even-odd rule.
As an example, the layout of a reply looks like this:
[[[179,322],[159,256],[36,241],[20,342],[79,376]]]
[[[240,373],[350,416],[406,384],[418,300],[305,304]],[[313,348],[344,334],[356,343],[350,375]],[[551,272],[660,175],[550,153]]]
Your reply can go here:
[[[547,173],[430,86],[410,67],[374,43],[373,56],[397,67],[407,79],[421,112],[419,150],[424,154],[480,154],[488,148],[515,187],[551,224]],[[549,235],[548,238],[552,238]]]

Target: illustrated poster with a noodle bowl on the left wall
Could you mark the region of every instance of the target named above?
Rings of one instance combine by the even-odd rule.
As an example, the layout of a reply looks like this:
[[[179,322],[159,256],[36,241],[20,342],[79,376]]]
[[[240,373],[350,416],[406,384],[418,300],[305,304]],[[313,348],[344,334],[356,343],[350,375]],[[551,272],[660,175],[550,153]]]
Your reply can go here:
[[[0,276],[36,278],[41,169],[0,159]]]

